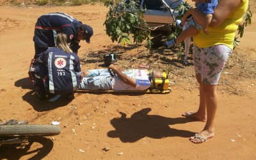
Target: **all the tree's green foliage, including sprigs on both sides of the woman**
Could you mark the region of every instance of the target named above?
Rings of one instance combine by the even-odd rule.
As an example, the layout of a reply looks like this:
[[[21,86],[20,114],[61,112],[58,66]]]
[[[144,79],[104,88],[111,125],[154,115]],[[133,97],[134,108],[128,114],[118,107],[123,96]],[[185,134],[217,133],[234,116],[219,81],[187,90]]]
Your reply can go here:
[[[140,1],[138,0],[109,0],[105,3],[105,6],[109,8],[106,15],[104,25],[106,26],[106,34],[111,37],[112,42],[118,42],[118,44],[126,45],[133,43],[141,44],[147,43],[148,49],[151,49],[151,31],[145,20],[143,19],[143,8],[140,7]],[[175,19],[182,19],[184,13],[188,11],[191,6],[187,1],[181,3],[177,8],[174,8],[175,12],[179,15]],[[250,6],[244,15],[243,24],[239,24],[237,29],[239,37],[243,37],[244,29],[248,24],[252,22],[252,11]],[[175,31],[170,33],[166,40],[177,38],[182,32],[178,26],[175,27]],[[234,48],[239,45],[238,36],[234,38]],[[182,43],[184,48],[184,43]]]

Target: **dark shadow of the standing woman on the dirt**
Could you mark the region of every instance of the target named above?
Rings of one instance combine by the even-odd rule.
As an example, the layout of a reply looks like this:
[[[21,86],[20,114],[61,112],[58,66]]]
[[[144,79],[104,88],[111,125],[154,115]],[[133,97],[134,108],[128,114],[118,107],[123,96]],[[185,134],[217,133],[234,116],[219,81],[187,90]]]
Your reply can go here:
[[[125,113],[120,112],[120,118],[113,118],[111,125],[115,131],[109,131],[110,138],[120,138],[122,142],[136,142],[141,138],[149,137],[161,139],[171,136],[189,138],[195,132],[172,129],[175,124],[191,122],[188,118],[168,118],[159,115],[148,115],[150,108],[141,109],[127,118]]]

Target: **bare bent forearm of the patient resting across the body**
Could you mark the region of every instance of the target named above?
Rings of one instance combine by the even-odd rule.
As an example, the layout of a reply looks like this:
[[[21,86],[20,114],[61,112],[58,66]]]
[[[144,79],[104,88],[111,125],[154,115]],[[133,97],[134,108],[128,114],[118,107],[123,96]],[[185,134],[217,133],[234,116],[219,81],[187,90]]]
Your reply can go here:
[[[136,79],[130,78],[127,75],[123,74],[122,69],[118,68],[115,65],[109,65],[108,68],[113,70],[122,82],[124,82],[125,84],[129,84],[132,87],[136,87]]]

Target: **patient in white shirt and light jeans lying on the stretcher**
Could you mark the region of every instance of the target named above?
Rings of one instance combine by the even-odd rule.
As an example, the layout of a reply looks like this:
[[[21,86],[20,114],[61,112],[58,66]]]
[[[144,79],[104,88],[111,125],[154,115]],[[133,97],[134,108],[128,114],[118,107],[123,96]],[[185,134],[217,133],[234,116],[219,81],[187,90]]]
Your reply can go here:
[[[78,90],[147,90],[151,85],[148,70],[123,70],[116,65],[87,70],[82,76]]]

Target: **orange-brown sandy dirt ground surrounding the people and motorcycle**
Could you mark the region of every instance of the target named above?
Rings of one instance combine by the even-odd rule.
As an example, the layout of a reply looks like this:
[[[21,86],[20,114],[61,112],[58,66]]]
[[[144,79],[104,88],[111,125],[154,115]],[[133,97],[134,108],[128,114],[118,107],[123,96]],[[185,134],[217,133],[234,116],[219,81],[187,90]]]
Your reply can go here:
[[[250,1],[254,14],[255,2]],[[28,66],[34,54],[36,19],[49,12],[68,13],[93,27],[91,44],[83,42],[79,50],[84,70],[104,67],[102,55],[116,52],[117,64],[122,67],[136,67],[138,63],[168,67],[172,92],[76,93],[71,102],[40,102],[31,91]],[[4,145],[0,159],[256,159],[255,15],[220,80],[216,136],[195,145],[188,139],[205,124],[181,116],[198,107],[193,66],[182,65],[171,50],[148,53],[143,45],[112,43],[103,26],[106,12],[108,8],[102,4],[0,6],[0,120],[15,118],[29,124],[60,120],[62,129],[60,135],[34,138],[24,148]],[[104,147],[109,150],[102,150]]]

